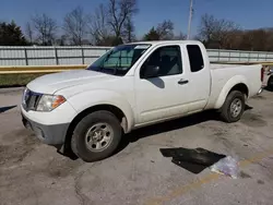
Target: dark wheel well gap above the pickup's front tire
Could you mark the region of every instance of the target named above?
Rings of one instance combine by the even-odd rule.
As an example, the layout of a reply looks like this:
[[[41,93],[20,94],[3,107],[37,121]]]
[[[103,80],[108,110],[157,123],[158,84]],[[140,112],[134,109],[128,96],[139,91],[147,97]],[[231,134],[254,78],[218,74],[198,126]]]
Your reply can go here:
[[[98,105],[98,106],[93,106],[91,108],[87,108],[85,110],[83,110],[82,112],[80,112],[73,120],[72,122],[70,123],[69,125],[69,129],[67,131],[67,134],[66,134],[66,145],[64,146],[69,146],[70,147],[70,141],[71,141],[71,137],[72,137],[72,134],[73,134],[73,131],[76,126],[76,124],[85,117],[87,116],[88,113],[92,113],[94,111],[98,111],[98,110],[105,110],[105,111],[109,111],[111,113],[114,113],[117,119],[119,120],[120,122],[120,125],[123,130],[123,132],[127,132],[127,119],[126,119],[126,116],[124,113],[122,112],[122,110],[120,110],[118,107],[116,106],[112,106],[112,105]]]

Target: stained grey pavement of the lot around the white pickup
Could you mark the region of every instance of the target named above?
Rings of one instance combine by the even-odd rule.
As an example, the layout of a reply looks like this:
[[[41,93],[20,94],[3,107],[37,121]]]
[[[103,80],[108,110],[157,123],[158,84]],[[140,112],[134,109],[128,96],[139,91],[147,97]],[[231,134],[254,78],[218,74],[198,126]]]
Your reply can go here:
[[[209,113],[128,135],[121,150],[95,164],[59,155],[21,124],[17,89],[0,91],[0,204],[272,204],[273,93],[251,99],[238,123]],[[252,108],[252,109],[251,109]],[[164,147],[202,147],[236,156],[238,179],[194,174],[162,156]]]

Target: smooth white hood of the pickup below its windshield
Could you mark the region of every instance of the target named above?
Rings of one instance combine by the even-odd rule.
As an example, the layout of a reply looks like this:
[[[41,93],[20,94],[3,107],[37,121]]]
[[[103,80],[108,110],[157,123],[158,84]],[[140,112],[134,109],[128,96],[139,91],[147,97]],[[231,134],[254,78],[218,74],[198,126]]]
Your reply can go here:
[[[36,93],[54,94],[67,87],[97,81],[102,82],[116,77],[118,76],[87,70],[64,71],[37,77],[27,84],[27,88]]]

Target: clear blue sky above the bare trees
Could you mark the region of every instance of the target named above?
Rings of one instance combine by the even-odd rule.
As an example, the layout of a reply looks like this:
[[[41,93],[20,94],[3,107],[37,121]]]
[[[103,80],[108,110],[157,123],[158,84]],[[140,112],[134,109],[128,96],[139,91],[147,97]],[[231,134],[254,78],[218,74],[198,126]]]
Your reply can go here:
[[[23,27],[32,15],[46,13],[62,23],[66,13],[81,5],[87,13],[108,0],[1,0],[0,21],[12,21]],[[136,36],[164,20],[175,24],[176,33],[187,33],[190,0],[138,0],[134,17]],[[193,0],[192,35],[203,14],[213,14],[238,23],[242,28],[273,27],[273,0]]]

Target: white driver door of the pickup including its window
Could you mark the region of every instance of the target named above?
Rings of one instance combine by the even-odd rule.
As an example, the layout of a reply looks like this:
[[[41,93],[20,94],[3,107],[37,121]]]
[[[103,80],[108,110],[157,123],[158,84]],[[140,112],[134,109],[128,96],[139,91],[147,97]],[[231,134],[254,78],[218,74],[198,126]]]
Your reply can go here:
[[[157,47],[135,77],[136,125],[188,112],[188,74],[183,71],[179,45]]]

